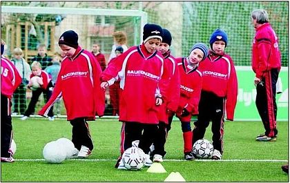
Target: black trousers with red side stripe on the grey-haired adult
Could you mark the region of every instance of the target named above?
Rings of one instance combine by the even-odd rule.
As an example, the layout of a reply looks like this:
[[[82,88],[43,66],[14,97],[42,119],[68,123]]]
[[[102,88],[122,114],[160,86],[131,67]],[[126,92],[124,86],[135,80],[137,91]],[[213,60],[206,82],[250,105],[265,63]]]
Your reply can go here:
[[[276,128],[277,104],[276,104],[276,83],[279,70],[269,70],[260,84],[257,84],[257,95],[255,105],[262,119],[265,135],[274,137],[278,134]]]

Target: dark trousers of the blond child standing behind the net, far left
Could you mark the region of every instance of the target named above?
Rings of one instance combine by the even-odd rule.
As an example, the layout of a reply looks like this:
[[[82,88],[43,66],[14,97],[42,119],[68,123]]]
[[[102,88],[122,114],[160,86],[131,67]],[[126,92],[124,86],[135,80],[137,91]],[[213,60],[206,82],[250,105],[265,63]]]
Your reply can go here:
[[[26,110],[26,86],[20,84],[13,94],[13,113],[19,113],[24,115]]]

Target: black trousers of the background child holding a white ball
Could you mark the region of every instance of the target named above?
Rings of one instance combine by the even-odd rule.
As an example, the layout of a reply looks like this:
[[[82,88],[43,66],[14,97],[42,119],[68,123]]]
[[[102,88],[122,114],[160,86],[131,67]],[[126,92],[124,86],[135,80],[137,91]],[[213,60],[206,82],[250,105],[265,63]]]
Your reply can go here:
[[[50,90],[50,86],[48,86],[47,89],[38,88],[37,90],[34,90],[34,91],[32,90],[32,97],[31,97],[31,100],[28,104],[28,108],[26,109],[24,115],[29,117],[30,115],[32,115],[32,113],[35,113],[35,106],[38,102],[38,99],[39,99],[39,96],[41,95],[41,93],[46,93],[45,101],[47,102],[52,95],[52,90]],[[48,116],[49,117],[53,116],[53,106],[48,111]]]

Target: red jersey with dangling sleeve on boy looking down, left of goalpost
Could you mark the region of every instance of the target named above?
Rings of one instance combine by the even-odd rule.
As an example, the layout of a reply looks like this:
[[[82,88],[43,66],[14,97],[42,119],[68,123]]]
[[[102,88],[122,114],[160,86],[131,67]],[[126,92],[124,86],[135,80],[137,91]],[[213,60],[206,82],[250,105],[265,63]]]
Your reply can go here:
[[[68,120],[86,117],[94,120],[95,115],[104,115],[105,95],[100,87],[101,68],[95,57],[87,50],[77,48],[71,58],[65,57],[52,92],[52,96],[39,115],[46,115],[50,107],[61,96],[64,99]]]

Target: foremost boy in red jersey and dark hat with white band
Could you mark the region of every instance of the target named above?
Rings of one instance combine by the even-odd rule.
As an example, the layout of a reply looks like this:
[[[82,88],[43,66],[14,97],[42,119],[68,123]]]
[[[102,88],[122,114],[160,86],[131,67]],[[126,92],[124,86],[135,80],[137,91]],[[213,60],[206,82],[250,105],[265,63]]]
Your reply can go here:
[[[162,104],[158,84],[163,73],[164,59],[156,47],[161,43],[162,35],[163,30],[160,26],[146,23],[143,43],[119,55],[101,75],[102,88],[109,86],[117,76],[121,79],[120,87],[123,89],[119,101],[119,121],[123,122],[121,153],[130,148],[133,141],[139,139],[139,148],[147,154],[157,132],[159,122],[157,106]],[[146,161],[148,159],[146,155]],[[116,167],[119,166],[119,160]]]

